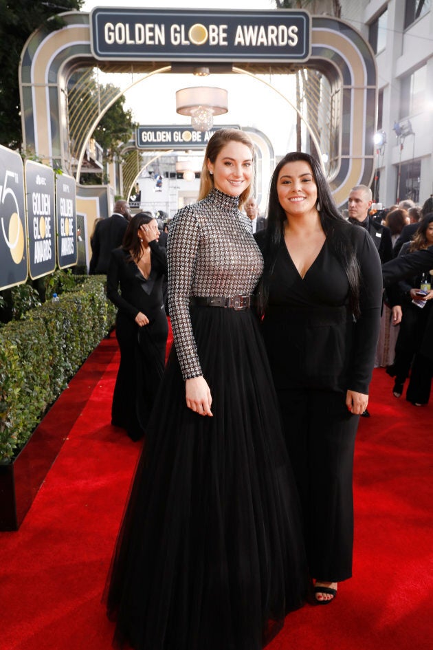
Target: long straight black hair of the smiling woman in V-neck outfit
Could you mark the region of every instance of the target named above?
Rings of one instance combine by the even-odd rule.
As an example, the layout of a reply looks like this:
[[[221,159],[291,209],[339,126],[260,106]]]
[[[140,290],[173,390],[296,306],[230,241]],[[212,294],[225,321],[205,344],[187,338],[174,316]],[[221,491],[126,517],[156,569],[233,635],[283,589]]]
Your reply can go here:
[[[297,162],[298,160],[307,162],[313,172],[313,178],[318,189],[320,223],[326,235],[326,240],[329,246],[331,246],[331,250],[335,254],[335,257],[340,260],[346,272],[349,283],[349,305],[353,315],[357,318],[360,313],[359,285],[361,279],[359,265],[355,257],[355,249],[350,239],[350,228],[354,226],[348,224],[346,219],[340,215],[318,160],[309,155],[309,153],[303,153],[301,151],[287,153],[280,160],[271,177],[267,206],[267,228],[265,232],[265,269],[258,290],[260,312],[263,313],[267,305],[270,276],[274,271],[278,250],[284,239],[284,224],[287,220],[286,213],[278,200],[278,176],[285,164],[288,162]]]

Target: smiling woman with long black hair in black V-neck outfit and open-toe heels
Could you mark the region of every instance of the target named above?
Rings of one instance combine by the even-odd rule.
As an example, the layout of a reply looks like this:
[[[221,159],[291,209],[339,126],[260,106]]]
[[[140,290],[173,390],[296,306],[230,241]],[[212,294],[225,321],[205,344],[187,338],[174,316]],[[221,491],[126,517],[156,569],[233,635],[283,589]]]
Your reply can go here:
[[[379,334],[379,254],[338,213],[318,162],[288,153],[271,178],[259,299],[302,504],[315,601],[351,577],[353,451]]]

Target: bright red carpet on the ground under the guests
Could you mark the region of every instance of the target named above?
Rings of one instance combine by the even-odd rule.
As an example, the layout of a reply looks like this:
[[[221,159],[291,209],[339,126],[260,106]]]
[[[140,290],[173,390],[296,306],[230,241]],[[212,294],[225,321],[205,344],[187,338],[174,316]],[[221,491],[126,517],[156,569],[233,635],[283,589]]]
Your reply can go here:
[[[104,340],[71,382],[80,400],[100,371],[20,530],[0,533],[1,650],[111,649],[100,599],[140,451],[110,425],[116,345]],[[391,388],[376,369],[357,439],[354,577],[332,605],[290,614],[267,650],[432,646],[433,405],[412,407]]]

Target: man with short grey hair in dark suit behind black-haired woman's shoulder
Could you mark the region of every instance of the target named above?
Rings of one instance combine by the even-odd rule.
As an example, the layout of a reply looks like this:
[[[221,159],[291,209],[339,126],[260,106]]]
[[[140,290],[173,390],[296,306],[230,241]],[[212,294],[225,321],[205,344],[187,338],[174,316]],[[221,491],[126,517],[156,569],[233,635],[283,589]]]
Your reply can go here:
[[[379,252],[381,263],[384,264],[392,258],[391,231],[368,215],[372,203],[370,188],[366,185],[355,185],[348,197],[348,220],[351,224],[368,230]]]

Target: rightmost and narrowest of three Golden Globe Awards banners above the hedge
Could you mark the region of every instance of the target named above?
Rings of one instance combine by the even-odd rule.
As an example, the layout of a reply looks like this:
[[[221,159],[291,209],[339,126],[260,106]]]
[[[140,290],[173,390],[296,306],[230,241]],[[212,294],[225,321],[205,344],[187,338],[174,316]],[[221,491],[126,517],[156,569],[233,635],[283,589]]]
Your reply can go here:
[[[65,174],[56,177],[57,259],[59,268],[77,263],[76,185]]]

